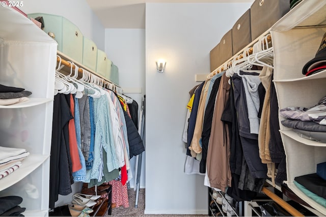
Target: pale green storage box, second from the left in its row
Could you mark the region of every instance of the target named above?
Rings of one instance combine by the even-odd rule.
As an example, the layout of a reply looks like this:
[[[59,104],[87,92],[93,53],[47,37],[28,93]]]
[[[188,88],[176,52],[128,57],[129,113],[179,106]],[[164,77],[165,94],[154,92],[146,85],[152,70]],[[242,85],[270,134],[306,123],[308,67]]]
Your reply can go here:
[[[83,62],[82,64],[87,68],[96,72],[97,60],[97,46],[96,44],[86,37],[83,38]]]

